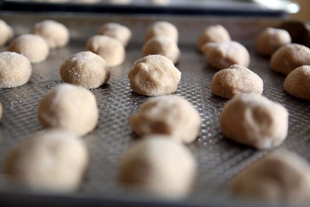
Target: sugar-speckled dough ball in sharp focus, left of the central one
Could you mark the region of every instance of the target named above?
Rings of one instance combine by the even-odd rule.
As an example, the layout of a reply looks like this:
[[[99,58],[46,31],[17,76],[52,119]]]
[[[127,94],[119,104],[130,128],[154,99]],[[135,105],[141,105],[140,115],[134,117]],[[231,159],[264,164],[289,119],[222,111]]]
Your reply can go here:
[[[67,58],[61,68],[62,80],[86,88],[97,88],[110,78],[106,61],[92,52],[80,52]]]

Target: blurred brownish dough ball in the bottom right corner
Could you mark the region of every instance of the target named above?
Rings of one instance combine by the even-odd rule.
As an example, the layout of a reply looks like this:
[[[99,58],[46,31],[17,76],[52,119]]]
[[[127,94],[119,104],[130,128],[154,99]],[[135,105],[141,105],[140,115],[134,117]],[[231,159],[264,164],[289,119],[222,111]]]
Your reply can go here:
[[[244,199],[309,203],[309,163],[293,152],[271,152],[242,170],[233,179],[232,191]]]

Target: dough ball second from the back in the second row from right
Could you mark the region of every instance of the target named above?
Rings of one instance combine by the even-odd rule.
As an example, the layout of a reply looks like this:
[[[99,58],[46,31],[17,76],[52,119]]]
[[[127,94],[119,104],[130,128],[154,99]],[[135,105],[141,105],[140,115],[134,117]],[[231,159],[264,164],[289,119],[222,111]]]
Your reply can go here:
[[[227,69],[235,64],[245,67],[249,65],[248,50],[238,42],[206,43],[202,52],[216,69]]]

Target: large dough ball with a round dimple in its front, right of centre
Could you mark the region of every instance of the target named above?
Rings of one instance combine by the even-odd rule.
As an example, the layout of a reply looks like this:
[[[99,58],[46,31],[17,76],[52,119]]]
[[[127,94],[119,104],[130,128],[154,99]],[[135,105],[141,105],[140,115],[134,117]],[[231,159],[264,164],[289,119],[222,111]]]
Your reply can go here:
[[[253,93],[239,94],[228,101],[221,114],[223,135],[257,149],[280,145],[288,132],[287,110]]]

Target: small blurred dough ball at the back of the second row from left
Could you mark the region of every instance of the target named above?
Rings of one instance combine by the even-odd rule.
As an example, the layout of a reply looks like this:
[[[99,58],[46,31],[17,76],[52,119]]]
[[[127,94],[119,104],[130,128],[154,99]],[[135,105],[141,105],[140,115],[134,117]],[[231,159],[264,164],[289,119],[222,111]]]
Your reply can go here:
[[[107,35],[119,40],[124,46],[126,46],[131,39],[131,31],[124,25],[109,22],[102,25],[98,30],[98,35]]]

